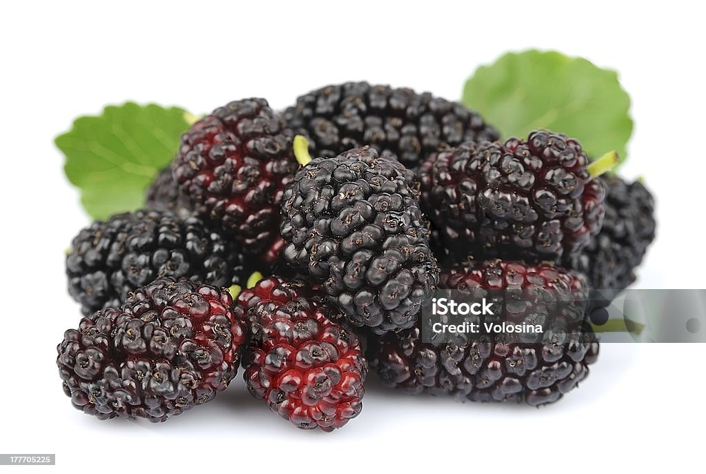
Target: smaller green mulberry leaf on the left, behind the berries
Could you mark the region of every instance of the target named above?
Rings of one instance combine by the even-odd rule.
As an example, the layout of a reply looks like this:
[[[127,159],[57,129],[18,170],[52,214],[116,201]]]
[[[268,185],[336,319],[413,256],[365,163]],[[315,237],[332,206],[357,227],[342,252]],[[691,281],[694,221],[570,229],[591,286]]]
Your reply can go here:
[[[190,114],[179,107],[109,105],[97,117],[79,117],[54,143],[66,155],[64,172],[96,219],[135,211],[145,189],[174,158]]]

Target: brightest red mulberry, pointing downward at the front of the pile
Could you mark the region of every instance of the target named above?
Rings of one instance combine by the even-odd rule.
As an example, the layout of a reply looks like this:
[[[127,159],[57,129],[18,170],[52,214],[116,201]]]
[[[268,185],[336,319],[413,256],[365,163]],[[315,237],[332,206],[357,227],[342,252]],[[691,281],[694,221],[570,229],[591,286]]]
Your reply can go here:
[[[308,285],[261,280],[241,292],[234,312],[251,328],[243,365],[253,396],[305,429],[331,431],[360,413],[368,366],[357,337]]]

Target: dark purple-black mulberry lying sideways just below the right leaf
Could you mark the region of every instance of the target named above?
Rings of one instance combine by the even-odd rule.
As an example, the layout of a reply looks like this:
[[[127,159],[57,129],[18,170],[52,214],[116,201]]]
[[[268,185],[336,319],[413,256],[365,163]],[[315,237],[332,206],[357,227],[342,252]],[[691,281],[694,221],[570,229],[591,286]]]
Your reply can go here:
[[[421,206],[459,258],[559,261],[602,225],[605,184],[587,165],[578,141],[548,131],[464,143],[421,165]]]

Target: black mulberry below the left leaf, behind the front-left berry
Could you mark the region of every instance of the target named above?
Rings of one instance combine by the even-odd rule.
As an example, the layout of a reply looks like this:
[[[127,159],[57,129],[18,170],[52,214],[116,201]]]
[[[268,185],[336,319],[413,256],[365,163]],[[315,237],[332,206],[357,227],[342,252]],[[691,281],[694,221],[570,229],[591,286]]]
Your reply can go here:
[[[230,286],[246,278],[244,256],[203,220],[137,211],[81,230],[66,256],[68,292],[84,314],[118,307],[135,288],[160,276]]]

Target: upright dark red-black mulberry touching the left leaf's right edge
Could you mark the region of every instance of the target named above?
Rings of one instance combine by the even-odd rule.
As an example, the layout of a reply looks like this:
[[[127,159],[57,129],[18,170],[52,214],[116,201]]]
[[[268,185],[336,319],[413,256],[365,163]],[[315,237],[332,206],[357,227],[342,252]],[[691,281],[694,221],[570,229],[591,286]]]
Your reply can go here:
[[[282,190],[297,171],[293,138],[266,100],[230,102],[181,136],[174,178],[199,215],[263,254],[279,238]]]

